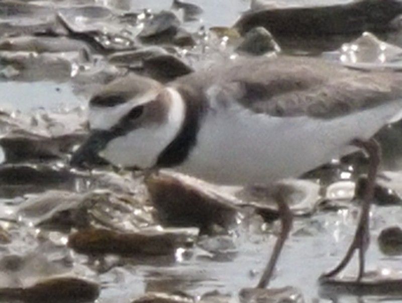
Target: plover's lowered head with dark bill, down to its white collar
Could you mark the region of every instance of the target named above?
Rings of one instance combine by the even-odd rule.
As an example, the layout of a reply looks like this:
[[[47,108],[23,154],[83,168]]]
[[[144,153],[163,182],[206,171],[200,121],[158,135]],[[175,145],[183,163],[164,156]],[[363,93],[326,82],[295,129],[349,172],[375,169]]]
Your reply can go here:
[[[100,157],[123,168],[152,168],[180,131],[184,112],[174,88],[134,74],[119,78],[90,99],[90,133],[71,165],[89,166]]]

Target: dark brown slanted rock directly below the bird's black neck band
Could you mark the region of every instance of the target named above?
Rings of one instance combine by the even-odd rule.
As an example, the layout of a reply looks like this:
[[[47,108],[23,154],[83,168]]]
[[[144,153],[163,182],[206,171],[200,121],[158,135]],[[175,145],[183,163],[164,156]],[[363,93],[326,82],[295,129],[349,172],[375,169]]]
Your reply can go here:
[[[214,224],[226,229],[235,223],[238,208],[206,182],[159,172],[150,175],[146,185],[162,224],[197,226],[205,233]]]

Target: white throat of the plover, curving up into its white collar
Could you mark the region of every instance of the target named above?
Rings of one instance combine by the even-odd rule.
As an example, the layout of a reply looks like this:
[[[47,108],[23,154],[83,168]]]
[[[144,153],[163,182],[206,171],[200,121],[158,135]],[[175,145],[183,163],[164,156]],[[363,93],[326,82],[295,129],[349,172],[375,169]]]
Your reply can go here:
[[[101,153],[102,157],[122,167],[145,169],[156,164],[159,155],[180,131],[185,118],[181,95],[173,88],[166,88],[165,92],[170,100],[167,119],[111,140]]]

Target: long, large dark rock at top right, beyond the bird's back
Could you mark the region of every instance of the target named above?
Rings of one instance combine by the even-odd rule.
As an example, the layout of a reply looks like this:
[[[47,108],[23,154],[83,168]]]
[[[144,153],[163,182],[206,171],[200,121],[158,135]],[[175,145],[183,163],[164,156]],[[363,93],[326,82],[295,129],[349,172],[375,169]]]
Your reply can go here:
[[[392,31],[391,21],[401,13],[402,4],[396,0],[361,0],[324,7],[249,11],[235,27],[245,34],[263,26],[284,48],[334,50],[364,31],[375,34]]]

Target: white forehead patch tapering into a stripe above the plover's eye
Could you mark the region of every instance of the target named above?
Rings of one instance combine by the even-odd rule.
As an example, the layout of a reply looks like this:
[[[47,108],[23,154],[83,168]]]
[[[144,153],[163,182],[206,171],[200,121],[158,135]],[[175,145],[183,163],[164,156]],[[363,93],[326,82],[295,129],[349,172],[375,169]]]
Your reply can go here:
[[[148,92],[139,98],[132,99],[126,103],[113,107],[97,107],[89,106],[88,121],[91,129],[111,129],[119,120],[126,115],[132,108],[133,104],[140,105],[154,99],[158,94],[157,91]]]

